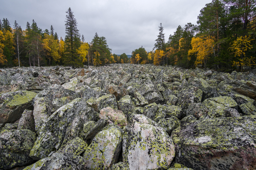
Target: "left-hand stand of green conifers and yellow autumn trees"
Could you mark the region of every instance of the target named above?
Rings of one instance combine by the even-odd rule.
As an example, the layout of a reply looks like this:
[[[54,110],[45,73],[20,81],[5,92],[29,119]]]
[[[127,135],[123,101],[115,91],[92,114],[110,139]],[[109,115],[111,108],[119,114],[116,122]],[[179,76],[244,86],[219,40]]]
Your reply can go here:
[[[111,54],[105,37],[95,33],[92,42],[85,42],[80,35],[74,14],[69,8],[66,11],[66,36],[63,40],[50,30],[42,31],[36,21],[27,22],[23,30],[17,21],[13,27],[7,18],[0,20],[0,67],[12,66],[47,66],[83,65],[99,66],[108,63],[127,63],[126,54]]]

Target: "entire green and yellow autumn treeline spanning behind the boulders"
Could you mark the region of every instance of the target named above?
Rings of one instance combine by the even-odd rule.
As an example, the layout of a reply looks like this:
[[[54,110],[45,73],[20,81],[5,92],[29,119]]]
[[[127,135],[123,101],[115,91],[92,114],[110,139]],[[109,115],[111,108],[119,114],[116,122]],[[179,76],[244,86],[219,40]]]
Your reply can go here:
[[[178,26],[167,41],[161,23],[153,50],[141,46],[131,59],[111,54],[106,38],[97,33],[85,42],[73,12],[66,13],[64,40],[53,26],[42,31],[34,20],[24,30],[16,21],[11,27],[7,18],[0,20],[0,67],[153,63],[243,71],[256,65],[256,0],[212,0],[201,9],[197,25]]]

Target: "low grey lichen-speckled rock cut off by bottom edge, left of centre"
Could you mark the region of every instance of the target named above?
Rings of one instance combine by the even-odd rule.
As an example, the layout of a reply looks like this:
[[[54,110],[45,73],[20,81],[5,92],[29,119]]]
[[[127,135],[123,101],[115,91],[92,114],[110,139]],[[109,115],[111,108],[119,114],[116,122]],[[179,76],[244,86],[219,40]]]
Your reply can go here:
[[[65,169],[65,170],[82,170],[84,168],[84,159],[71,153],[53,153],[47,157],[27,166],[24,170],[48,170],[48,169]]]

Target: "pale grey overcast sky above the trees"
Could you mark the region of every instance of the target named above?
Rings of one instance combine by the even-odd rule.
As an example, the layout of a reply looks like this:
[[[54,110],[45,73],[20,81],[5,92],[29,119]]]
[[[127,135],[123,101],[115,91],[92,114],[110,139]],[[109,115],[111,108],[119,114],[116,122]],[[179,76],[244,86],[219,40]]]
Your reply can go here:
[[[196,24],[197,16],[211,0],[1,0],[0,19],[14,20],[22,29],[34,19],[42,30],[52,25],[65,37],[66,11],[71,8],[79,33],[90,42],[97,32],[107,39],[112,53],[131,55],[143,46],[151,51],[164,27],[165,40],[181,25]]]

